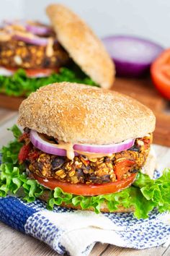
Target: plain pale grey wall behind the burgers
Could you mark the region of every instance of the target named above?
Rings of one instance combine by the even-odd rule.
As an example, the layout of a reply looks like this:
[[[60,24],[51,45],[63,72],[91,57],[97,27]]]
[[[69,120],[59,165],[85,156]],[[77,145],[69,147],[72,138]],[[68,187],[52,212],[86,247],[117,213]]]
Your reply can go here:
[[[48,22],[45,7],[55,2],[71,7],[99,37],[140,35],[162,46],[169,46],[169,0],[5,0],[1,5],[0,17],[1,20],[27,17]]]

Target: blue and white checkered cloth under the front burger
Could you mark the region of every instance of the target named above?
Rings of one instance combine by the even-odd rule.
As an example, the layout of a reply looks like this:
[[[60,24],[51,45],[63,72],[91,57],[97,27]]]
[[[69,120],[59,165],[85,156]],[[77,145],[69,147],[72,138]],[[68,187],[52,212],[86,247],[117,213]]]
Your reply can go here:
[[[145,207],[143,205],[143,207]],[[45,202],[26,203],[17,197],[0,198],[0,221],[42,240],[59,254],[89,255],[96,242],[146,249],[169,241],[168,213],[153,210],[146,220],[133,213],[101,213],[55,207]]]

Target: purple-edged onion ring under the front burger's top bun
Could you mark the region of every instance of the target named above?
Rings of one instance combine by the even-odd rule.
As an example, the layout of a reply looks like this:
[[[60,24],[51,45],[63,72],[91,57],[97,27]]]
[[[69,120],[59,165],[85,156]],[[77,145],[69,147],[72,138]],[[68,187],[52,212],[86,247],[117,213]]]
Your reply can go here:
[[[30,140],[35,148],[42,150],[45,153],[49,153],[52,155],[66,155],[66,150],[58,148],[58,145],[52,144],[42,138],[35,132],[31,130],[30,132]],[[75,155],[78,155],[75,151],[78,150],[82,152],[81,155],[84,153],[102,153],[102,154],[111,154],[111,153],[118,153],[122,150],[128,150],[131,148],[135,142],[135,139],[125,140],[120,143],[109,144],[109,145],[92,145],[92,144],[75,144],[73,145],[73,150]],[[80,155],[80,153],[79,153]]]

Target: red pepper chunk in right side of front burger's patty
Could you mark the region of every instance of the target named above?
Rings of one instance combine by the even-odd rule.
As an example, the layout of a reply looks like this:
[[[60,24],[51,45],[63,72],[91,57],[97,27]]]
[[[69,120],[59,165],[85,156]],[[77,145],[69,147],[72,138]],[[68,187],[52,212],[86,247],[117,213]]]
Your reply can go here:
[[[118,181],[122,179],[123,174],[126,174],[130,170],[131,166],[134,165],[134,163],[135,163],[134,161],[130,161],[130,160],[123,160],[116,163],[115,174],[117,176]]]

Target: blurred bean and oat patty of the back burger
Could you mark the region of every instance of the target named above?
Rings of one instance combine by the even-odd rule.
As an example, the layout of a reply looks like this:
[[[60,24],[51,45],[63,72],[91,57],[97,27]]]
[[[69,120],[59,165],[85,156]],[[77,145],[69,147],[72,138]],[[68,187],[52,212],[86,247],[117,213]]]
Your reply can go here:
[[[68,64],[68,54],[59,43],[53,44],[50,55],[47,47],[21,40],[0,41],[0,65],[9,69],[53,69]]]

